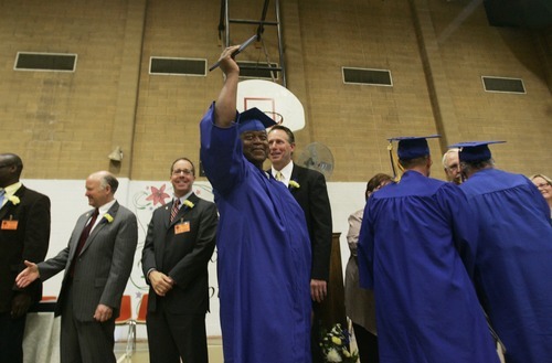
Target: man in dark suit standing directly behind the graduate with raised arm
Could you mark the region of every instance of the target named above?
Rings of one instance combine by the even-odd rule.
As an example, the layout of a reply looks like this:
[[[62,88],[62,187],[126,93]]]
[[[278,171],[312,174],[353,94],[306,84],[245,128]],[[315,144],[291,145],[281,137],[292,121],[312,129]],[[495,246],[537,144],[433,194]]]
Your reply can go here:
[[[307,227],[312,248],[310,274],[310,295],[312,298],[312,362],[323,362],[320,355],[320,303],[327,295],[327,281],[330,270],[331,254],[331,207],[323,175],[295,164],[291,160],[295,150],[295,136],[285,126],[274,126],[268,132],[272,174],[285,183],[295,200],[301,206],[307,220]]]

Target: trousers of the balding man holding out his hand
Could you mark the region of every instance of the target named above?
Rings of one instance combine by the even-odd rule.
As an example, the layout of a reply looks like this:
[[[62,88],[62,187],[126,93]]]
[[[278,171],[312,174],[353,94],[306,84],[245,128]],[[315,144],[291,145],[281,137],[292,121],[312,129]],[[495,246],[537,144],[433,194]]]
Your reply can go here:
[[[68,286],[62,307],[61,362],[115,363],[115,318],[102,323],[79,321],[75,318],[78,307],[73,302],[73,288]]]

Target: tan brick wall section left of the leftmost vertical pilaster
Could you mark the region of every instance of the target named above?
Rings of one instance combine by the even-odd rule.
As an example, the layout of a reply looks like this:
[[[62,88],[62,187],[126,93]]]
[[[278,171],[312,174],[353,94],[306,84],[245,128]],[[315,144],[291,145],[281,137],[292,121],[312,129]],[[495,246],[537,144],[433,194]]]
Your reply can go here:
[[[25,178],[78,179],[108,168],[119,87],[127,86],[127,15],[117,0],[0,2],[1,150],[21,154]],[[18,51],[76,53],[76,72],[15,72]]]

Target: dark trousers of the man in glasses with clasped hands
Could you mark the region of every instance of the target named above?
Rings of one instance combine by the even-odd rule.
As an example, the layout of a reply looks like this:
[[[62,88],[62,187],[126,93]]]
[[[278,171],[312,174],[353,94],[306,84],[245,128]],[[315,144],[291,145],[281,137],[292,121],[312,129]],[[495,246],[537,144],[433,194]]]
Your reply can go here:
[[[185,309],[185,307],[184,307]],[[150,363],[208,363],[204,313],[171,313],[157,297],[146,317]]]

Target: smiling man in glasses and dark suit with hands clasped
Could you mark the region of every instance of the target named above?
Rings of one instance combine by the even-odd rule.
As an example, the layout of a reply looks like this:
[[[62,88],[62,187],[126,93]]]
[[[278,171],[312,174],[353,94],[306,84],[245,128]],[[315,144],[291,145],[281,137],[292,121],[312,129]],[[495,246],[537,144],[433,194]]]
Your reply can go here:
[[[208,264],[216,237],[214,203],[192,191],[195,168],[177,159],[170,171],[171,203],[153,212],[142,250],[151,363],[206,363]]]

